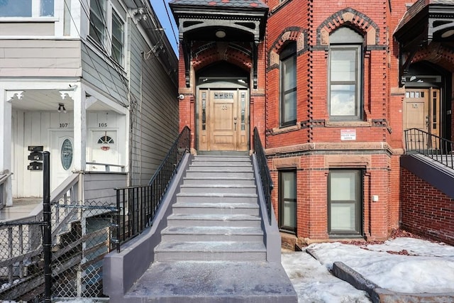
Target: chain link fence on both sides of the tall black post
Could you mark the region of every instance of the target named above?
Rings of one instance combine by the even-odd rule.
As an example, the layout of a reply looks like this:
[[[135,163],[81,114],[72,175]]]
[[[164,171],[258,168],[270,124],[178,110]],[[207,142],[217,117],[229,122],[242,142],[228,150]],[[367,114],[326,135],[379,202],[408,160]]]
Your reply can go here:
[[[51,206],[52,299],[104,297],[102,260],[115,248],[116,206],[66,201]],[[43,226],[0,223],[0,302],[43,302]]]

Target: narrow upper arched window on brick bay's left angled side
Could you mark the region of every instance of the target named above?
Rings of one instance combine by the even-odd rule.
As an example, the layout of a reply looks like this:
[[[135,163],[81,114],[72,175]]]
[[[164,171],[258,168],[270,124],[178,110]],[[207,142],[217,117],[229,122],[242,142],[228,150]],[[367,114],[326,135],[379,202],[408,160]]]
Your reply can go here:
[[[288,43],[279,55],[280,126],[297,123],[297,43]]]

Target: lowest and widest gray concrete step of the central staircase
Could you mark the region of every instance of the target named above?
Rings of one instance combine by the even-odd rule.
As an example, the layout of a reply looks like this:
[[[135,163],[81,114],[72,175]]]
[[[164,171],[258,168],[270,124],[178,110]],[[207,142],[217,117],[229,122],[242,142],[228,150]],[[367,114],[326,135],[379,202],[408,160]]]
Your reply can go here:
[[[157,262],[176,261],[266,261],[263,241],[161,242],[155,249]]]

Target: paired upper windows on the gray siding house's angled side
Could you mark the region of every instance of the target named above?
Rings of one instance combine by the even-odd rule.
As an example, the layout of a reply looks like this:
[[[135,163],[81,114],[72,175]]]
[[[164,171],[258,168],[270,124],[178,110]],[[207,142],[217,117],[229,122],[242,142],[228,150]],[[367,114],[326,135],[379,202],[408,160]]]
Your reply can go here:
[[[119,65],[124,58],[124,26],[108,0],[90,0],[89,36]]]

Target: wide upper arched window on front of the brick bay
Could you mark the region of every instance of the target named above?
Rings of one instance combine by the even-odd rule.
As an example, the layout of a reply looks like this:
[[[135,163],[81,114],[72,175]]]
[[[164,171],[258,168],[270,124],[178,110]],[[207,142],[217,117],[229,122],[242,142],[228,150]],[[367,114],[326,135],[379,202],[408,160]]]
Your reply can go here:
[[[362,42],[350,28],[338,28],[330,35],[329,101],[330,119],[354,121],[362,119]]]

